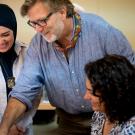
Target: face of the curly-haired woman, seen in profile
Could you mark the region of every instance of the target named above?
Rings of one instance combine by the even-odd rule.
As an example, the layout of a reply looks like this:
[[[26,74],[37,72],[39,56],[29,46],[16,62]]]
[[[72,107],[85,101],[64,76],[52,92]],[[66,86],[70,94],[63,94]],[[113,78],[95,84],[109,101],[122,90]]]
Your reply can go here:
[[[98,93],[96,93],[97,95],[99,95]],[[100,112],[104,112],[104,104],[103,102],[100,102],[100,99],[98,96],[94,96],[92,94],[92,85],[91,82],[86,79],[86,93],[84,95],[84,99],[88,100],[91,102],[91,107],[93,109],[93,111],[100,111]]]

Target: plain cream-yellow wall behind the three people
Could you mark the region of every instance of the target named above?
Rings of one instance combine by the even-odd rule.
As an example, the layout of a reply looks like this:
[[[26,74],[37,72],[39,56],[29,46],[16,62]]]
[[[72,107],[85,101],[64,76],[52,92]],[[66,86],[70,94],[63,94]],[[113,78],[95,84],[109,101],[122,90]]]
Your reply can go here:
[[[24,0],[0,0],[9,4],[15,11],[18,20],[18,36],[28,43],[35,34],[26,22],[27,18],[20,16],[20,6]],[[121,30],[135,48],[135,0],[71,0],[81,5],[86,11],[102,16],[109,23]]]

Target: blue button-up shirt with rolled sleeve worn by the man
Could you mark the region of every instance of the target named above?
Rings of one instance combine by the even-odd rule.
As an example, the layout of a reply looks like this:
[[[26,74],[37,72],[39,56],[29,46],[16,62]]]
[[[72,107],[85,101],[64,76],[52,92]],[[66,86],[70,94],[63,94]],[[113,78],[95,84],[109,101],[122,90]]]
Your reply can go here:
[[[45,85],[50,103],[66,112],[78,114],[91,111],[90,103],[84,100],[85,73],[88,61],[95,61],[106,54],[126,56],[135,64],[135,54],[123,34],[101,17],[80,13],[81,32],[75,48],[68,50],[67,62],[64,54],[37,33],[30,44],[27,56],[11,92],[28,108]]]

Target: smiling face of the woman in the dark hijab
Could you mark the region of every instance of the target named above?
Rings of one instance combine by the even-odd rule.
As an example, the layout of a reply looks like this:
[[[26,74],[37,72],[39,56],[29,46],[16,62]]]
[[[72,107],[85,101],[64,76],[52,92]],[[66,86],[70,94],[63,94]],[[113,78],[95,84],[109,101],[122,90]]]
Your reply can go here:
[[[13,31],[9,28],[0,26],[0,52],[7,52],[14,43]]]

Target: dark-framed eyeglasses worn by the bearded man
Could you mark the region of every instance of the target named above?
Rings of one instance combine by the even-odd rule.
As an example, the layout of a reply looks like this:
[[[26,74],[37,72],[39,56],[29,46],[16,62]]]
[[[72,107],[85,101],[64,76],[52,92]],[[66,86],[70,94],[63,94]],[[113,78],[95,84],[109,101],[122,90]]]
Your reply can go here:
[[[33,28],[36,28],[36,25],[38,26],[46,26],[47,25],[47,21],[49,20],[49,18],[52,16],[54,12],[49,13],[45,18],[39,19],[37,21],[28,21],[27,24],[30,25]]]

